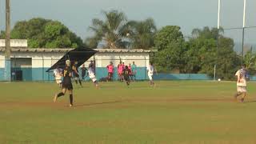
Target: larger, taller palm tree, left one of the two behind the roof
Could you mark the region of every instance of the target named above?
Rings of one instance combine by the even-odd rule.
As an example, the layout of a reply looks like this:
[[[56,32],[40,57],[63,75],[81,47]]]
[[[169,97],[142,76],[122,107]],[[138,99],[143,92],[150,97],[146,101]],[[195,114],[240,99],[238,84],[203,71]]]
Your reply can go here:
[[[106,43],[106,48],[117,49],[122,46],[122,30],[126,25],[126,15],[118,10],[103,11],[103,14],[104,21],[98,18],[92,20],[90,30],[94,31],[94,37],[87,39],[87,42],[103,41]]]

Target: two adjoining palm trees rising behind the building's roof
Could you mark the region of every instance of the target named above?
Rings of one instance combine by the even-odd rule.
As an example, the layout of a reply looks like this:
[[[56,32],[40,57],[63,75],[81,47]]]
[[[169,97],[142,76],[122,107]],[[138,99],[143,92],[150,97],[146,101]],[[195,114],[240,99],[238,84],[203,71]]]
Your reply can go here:
[[[104,19],[94,18],[90,30],[94,35],[86,38],[86,44],[96,48],[98,42],[106,48],[149,49],[154,46],[156,26],[152,18],[144,21],[127,21],[126,15],[118,10],[103,11]]]

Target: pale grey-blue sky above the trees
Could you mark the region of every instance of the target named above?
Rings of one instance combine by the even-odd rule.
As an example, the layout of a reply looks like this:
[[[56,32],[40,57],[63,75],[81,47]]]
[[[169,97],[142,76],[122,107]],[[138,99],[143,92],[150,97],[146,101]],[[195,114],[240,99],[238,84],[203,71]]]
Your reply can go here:
[[[190,36],[194,28],[216,27],[218,0],[10,0],[11,25],[40,17],[62,22],[82,39],[92,35],[93,18],[103,18],[102,10],[121,10],[129,20],[154,18],[156,26],[181,26]],[[246,26],[256,26],[255,0],[247,0]],[[221,26],[242,27],[243,0],[222,0]],[[5,0],[0,0],[0,29],[5,29]],[[242,30],[226,30],[226,36],[241,42]],[[256,40],[256,29],[246,30],[246,42]]]

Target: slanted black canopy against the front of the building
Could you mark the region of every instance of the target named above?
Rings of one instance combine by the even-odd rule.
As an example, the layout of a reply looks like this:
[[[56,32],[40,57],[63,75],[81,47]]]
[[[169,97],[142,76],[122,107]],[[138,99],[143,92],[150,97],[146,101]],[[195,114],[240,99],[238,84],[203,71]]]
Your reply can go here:
[[[58,62],[51,66],[50,69],[46,70],[49,72],[50,70],[54,70],[57,68],[64,69],[66,66],[66,60],[69,59],[72,64],[74,61],[78,61],[78,67],[81,66],[84,62],[86,62],[91,56],[96,54],[98,51],[88,48],[78,48],[74,50],[70,50],[67,52]]]

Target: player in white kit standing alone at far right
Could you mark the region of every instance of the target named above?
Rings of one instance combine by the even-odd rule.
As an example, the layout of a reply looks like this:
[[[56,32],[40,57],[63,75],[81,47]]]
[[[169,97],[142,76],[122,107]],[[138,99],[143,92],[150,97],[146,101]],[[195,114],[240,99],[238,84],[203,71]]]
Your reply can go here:
[[[234,94],[234,98],[235,98],[235,100],[237,100],[238,96],[242,95],[241,102],[244,102],[244,100],[246,98],[246,93],[247,93],[247,90],[246,90],[246,66],[242,65],[242,68],[235,73],[235,76],[237,76],[237,78],[238,78],[238,80],[237,80],[238,93]]]

